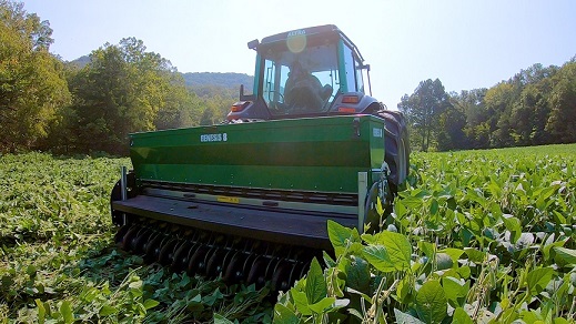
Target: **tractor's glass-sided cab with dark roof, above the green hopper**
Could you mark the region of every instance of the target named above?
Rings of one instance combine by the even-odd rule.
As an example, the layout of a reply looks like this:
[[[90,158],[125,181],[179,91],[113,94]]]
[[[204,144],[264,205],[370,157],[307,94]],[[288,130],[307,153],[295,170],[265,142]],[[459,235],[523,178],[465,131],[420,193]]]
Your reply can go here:
[[[370,65],[335,26],[279,33],[249,48],[257,52],[253,91],[245,95],[241,87],[228,120],[362,113],[375,104],[365,94]]]

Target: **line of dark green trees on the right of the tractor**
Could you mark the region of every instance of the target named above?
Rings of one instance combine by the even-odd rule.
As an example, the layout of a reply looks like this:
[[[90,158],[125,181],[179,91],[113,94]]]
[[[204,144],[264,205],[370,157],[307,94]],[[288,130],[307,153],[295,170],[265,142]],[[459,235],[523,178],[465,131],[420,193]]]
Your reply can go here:
[[[448,151],[576,142],[576,57],[534,64],[489,89],[447,93],[425,80],[398,103],[412,146]]]

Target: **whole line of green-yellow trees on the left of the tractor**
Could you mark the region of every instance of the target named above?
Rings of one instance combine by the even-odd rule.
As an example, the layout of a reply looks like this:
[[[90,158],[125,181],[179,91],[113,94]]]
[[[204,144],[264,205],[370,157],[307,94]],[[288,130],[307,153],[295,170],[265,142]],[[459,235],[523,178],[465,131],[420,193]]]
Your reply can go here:
[[[0,0],[0,152],[123,154],[129,133],[213,124],[238,95],[210,87],[198,95],[135,38],[104,44],[80,68],[49,52],[49,22],[23,3]]]

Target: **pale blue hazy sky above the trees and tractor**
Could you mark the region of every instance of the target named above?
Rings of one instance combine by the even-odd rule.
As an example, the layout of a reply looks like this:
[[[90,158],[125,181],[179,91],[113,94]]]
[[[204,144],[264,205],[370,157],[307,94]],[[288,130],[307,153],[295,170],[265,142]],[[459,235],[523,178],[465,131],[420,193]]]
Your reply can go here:
[[[135,37],[180,72],[254,73],[246,42],[336,24],[372,67],[375,98],[395,108],[420,81],[489,88],[534,63],[576,55],[576,1],[29,0],[49,20],[51,51],[74,60]]]

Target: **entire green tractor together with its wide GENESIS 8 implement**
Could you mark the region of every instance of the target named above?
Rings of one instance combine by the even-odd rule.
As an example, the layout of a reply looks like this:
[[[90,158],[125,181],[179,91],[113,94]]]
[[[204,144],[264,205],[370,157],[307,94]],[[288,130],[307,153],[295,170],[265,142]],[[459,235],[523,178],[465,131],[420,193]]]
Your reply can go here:
[[[331,251],[326,222],[376,230],[408,173],[404,118],[335,26],[249,42],[251,94],[221,124],[130,135],[117,242],[173,271],[286,290]],[[366,91],[367,90],[367,91]]]

